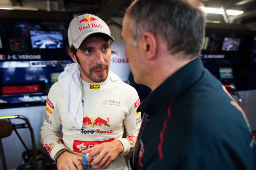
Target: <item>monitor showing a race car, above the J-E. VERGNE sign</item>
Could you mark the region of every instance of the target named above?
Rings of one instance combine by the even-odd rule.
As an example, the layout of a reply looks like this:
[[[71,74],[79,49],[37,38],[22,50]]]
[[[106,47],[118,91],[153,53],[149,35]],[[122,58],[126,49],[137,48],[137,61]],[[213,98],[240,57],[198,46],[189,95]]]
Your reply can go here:
[[[32,49],[63,49],[63,31],[29,30]]]

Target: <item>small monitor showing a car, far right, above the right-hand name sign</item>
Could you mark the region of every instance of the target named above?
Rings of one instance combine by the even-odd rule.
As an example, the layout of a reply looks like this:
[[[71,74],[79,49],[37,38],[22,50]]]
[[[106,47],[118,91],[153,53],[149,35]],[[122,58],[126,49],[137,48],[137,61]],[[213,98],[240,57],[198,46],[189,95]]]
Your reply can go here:
[[[240,41],[241,38],[224,38],[222,44],[222,51],[238,51]]]

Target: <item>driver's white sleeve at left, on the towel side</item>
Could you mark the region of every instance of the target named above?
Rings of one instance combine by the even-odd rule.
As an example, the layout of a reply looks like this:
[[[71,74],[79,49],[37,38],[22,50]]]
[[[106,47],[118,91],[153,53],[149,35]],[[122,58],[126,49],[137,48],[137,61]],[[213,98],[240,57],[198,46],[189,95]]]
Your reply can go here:
[[[58,99],[64,93],[60,94],[59,89],[60,87],[55,83],[48,93],[45,120],[40,132],[43,148],[50,154],[52,159],[54,159],[59,150],[66,148],[60,135],[61,121],[58,112],[61,106],[58,103]]]

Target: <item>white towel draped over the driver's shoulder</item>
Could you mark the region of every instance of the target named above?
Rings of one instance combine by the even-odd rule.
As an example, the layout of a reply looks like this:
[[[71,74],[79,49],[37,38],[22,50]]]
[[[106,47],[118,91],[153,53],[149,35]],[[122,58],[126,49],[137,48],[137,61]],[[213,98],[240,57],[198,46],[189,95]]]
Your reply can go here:
[[[82,128],[82,82],[78,63],[68,64],[58,82],[65,91],[67,114],[77,129]]]

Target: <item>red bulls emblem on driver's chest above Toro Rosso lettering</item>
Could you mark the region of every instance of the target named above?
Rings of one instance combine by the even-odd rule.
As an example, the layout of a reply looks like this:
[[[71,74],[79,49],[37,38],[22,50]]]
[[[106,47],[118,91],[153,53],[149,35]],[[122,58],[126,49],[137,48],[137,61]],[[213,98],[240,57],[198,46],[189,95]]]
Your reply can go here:
[[[84,126],[88,125],[91,128],[94,128],[96,126],[102,126],[102,125],[110,127],[110,125],[108,124],[110,122],[109,119],[110,118],[108,117],[107,118],[108,121],[106,121],[95,114],[90,114],[83,118],[82,123]]]

